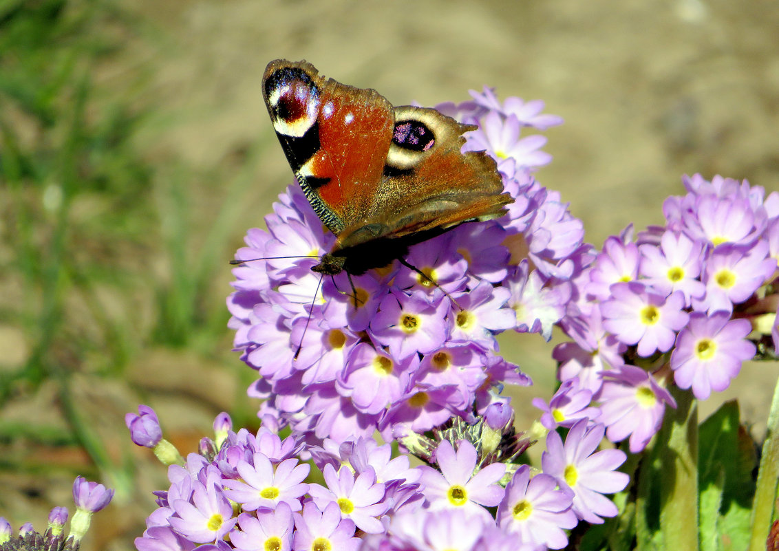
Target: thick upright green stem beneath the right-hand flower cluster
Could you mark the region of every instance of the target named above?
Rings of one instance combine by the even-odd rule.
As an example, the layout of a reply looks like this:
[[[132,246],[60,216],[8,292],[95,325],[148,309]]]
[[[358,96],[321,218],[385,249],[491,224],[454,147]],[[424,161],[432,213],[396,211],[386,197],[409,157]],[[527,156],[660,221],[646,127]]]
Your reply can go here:
[[[664,549],[698,549],[698,406],[690,391],[670,388],[668,409],[657,435],[660,451],[660,530]]]

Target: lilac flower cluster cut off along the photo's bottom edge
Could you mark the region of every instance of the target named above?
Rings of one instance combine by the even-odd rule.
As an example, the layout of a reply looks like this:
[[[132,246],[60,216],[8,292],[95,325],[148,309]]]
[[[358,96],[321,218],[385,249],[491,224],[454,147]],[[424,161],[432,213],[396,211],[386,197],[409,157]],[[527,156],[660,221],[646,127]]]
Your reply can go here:
[[[189,454],[185,465],[169,467],[171,486],[156,493],[159,508],[136,548],[561,549],[578,521],[615,514],[603,494],[628,481],[615,472],[622,451],[596,451],[604,430],[581,421],[565,444],[550,433],[544,472],[532,477],[527,465],[489,462],[495,456],[470,440],[438,440],[428,465],[412,468],[407,455],[392,458],[390,444],[372,439],[320,447],[265,426],[256,435],[227,430],[216,454]],[[308,481],[301,454],[324,484]],[[487,507],[497,508],[495,517]]]

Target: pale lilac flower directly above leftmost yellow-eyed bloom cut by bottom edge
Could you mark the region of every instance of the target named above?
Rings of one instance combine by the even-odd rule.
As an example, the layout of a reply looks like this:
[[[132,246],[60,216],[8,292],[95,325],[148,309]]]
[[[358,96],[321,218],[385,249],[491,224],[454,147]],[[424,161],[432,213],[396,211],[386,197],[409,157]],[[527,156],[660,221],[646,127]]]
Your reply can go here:
[[[303,483],[308,471],[307,464],[298,465],[298,459],[285,459],[273,471],[273,465],[265,455],[256,453],[253,464],[238,462],[236,470],[241,480],[224,480],[224,495],[241,504],[244,511],[255,511],[259,507],[276,508],[282,502],[292,511],[300,511],[300,497],[308,491]]]

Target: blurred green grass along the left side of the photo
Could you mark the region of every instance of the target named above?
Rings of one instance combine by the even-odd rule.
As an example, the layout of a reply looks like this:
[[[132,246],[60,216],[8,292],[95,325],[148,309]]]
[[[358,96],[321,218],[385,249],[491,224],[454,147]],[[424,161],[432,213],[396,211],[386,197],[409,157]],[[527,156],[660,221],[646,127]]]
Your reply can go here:
[[[75,385],[115,381],[132,409],[149,396],[128,373],[145,350],[231,366],[235,393],[210,409],[228,402],[238,422],[254,417],[229,355],[228,290],[213,282],[229,273],[259,142],[210,174],[181,160],[155,166],[137,140],[150,112],[132,96],[143,70],[121,89],[99,77],[136,33],[155,30],[113,2],[0,2],[0,515],[15,525],[34,520],[15,518],[25,511],[15,498],[51,506],[31,487],[55,473],[101,479],[129,499],[137,466],[101,436]],[[224,184],[204,219],[192,196],[206,177]],[[14,405],[36,414],[9,414]]]

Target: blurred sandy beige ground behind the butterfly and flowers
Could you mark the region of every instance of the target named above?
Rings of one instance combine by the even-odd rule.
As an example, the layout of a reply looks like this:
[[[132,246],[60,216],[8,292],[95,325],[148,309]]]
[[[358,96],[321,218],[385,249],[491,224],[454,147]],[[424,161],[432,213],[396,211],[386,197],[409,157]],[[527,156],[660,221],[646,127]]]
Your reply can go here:
[[[208,174],[239,162],[258,139],[267,143],[247,207],[232,221],[231,250],[215,262],[231,258],[245,229],[262,223],[270,202],[291,181],[259,91],[263,68],[274,58],[305,58],[341,82],[378,89],[393,104],[466,100],[468,89],[485,84],[502,97],[545,100],[547,112],[566,124],[546,133],[545,150],[555,160],[538,179],[571,202],[594,244],[628,223],[661,223],[662,201],[683,192],[685,173],[747,178],[779,189],[775,2],[137,0],[125,2],[125,9],[149,28],[99,74],[108,89],[153,106],[137,137],[150,159],[183,159]],[[128,80],[141,84],[123,89]],[[202,185],[196,195],[203,199],[193,208],[207,225],[224,183]],[[226,294],[229,280],[226,268],[215,286]],[[507,335],[502,345],[540,387],[520,393],[521,400],[545,395],[554,377],[551,346],[536,335]],[[141,354],[134,377],[168,395],[183,388],[183,397],[153,405],[162,406],[169,426],[194,432],[207,430],[213,412],[229,409],[236,395],[220,379],[224,367],[211,367],[194,357],[149,351]],[[747,367],[728,392],[746,398],[746,417],[758,434],[776,367]],[[214,384],[224,388],[203,390]],[[148,398],[154,402],[153,394]],[[88,391],[84,399],[90,399]],[[126,396],[103,400],[104,415],[118,416],[120,426],[122,413],[135,406]],[[149,491],[160,480],[143,477],[136,489],[143,497],[107,513],[111,520],[86,549],[129,549],[153,507]],[[47,497],[66,502],[68,485],[52,481]],[[13,516],[42,525],[45,510],[32,517],[39,508],[24,505]]]

